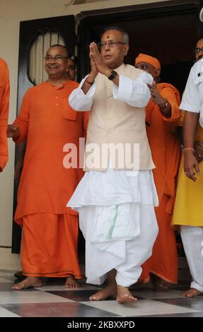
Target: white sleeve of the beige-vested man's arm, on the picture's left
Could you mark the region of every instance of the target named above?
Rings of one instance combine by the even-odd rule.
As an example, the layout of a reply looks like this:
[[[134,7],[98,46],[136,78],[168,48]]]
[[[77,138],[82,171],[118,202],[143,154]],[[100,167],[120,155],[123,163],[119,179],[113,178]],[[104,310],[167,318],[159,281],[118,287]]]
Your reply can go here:
[[[87,76],[86,76],[87,77]],[[83,78],[78,88],[72,91],[69,95],[69,105],[76,111],[90,111],[93,104],[93,96],[95,93],[95,83],[91,85],[90,90],[86,95],[83,93],[81,87],[83,86],[86,77]]]

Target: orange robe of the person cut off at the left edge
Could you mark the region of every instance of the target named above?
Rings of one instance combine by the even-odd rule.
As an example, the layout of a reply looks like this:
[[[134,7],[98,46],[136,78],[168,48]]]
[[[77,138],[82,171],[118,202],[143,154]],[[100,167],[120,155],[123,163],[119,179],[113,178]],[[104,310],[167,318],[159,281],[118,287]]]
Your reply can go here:
[[[0,58],[0,172],[4,170],[8,161],[8,143],[6,129],[8,124],[8,109],[10,97],[10,84],[8,66]]]

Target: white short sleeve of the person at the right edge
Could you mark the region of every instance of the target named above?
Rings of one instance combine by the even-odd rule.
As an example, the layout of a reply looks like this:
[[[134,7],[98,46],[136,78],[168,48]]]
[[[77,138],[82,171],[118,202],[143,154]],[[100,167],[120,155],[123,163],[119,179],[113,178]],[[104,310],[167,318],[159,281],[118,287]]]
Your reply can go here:
[[[199,91],[197,88],[197,75],[196,68],[192,67],[190,74],[187,78],[187,84],[185,91],[182,96],[182,101],[180,103],[180,109],[188,112],[199,113],[200,110],[200,100],[199,100]]]

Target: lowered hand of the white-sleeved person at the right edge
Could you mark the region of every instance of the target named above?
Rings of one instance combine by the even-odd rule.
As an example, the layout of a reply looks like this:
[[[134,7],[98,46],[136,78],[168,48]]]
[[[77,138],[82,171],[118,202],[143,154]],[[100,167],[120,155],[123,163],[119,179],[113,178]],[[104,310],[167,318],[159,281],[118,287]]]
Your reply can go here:
[[[184,174],[189,177],[189,179],[192,179],[192,181],[196,181],[197,178],[195,177],[195,172],[197,175],[200,174],[199,172],[199,165],[198,161],[195,158],[195,155],[192,151],[188,150],[185,151],[185,158],[184,158]],[[194,172],[195,170],[195,172]]]

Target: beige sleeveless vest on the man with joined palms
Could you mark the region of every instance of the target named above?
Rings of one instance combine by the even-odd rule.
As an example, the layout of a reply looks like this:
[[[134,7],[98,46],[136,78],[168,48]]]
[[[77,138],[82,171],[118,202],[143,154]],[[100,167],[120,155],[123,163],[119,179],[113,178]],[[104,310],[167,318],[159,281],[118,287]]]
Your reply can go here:
[[[122,64],[117,73],[132,79],[143,71]],[[109,159],[115,170],[154,168],[146,136],[145,108],[132,107],[112,96],[112,81],[102,74],[95,79],[84,170],[105,171]]]

